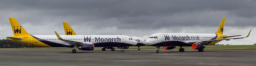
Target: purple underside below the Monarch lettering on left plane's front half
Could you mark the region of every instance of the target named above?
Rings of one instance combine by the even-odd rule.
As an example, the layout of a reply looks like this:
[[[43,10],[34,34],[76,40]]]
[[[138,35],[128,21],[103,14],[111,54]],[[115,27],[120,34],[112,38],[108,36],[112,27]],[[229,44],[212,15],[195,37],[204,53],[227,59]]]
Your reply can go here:
[[[124,47],[124,46],[134,46],[132,44],[124,43],[124,42],[99,42],[94,43],[94,47]]]

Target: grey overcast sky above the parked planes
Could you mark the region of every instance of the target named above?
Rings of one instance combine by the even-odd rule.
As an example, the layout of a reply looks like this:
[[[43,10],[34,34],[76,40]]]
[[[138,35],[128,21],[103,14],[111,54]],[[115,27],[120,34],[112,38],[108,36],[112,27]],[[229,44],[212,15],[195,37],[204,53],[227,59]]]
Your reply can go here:
[[[215,33],[226,17],[224,34],[248,38],[218,44],[256,43],[255,0],[1,0],[0,39],[13,36],[9,17],[32,35],[64,35],[68,22],[78,35]]]

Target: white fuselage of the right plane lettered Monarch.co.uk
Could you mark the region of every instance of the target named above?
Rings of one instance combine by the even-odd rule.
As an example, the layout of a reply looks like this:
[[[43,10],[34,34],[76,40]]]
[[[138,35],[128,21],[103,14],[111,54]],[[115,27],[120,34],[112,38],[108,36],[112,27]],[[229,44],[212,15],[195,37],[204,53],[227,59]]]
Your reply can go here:
[[[217,36],[217,34],[156,33],[152,34],[146,43],[150,46],[191,46],[188,42],[213,40]]]

